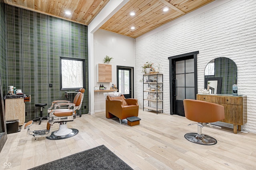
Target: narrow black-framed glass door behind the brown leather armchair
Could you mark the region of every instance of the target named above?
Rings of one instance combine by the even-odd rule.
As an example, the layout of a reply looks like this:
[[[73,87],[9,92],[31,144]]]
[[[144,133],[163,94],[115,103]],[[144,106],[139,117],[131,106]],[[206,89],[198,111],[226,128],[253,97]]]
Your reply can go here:
[[[134,67],[116,66],[117,89],[126,99],[134,97]]]

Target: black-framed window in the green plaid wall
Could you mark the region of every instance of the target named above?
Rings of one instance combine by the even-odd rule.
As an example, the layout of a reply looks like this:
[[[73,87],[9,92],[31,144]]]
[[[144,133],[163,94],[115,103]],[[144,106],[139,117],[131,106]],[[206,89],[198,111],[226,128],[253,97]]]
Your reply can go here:
[[[84,60],[60,57],[60,89],[84,88]]]

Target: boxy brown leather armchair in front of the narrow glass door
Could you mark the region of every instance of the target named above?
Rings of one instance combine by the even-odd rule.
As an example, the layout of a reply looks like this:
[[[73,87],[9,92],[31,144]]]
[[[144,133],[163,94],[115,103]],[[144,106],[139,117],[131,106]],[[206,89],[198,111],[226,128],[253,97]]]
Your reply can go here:
[[[123,95],[120,97],[107,96],[106,118],[118,117],[121,124],[122,119],[137,117],[138,113],[139,105],[137,99],[125,99]]]

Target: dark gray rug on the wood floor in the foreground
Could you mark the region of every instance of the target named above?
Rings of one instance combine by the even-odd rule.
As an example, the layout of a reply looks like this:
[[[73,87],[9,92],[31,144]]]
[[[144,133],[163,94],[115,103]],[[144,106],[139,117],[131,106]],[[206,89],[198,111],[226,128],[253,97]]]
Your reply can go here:
[[[30,170],[132,170],[106,146],[85,150]]]

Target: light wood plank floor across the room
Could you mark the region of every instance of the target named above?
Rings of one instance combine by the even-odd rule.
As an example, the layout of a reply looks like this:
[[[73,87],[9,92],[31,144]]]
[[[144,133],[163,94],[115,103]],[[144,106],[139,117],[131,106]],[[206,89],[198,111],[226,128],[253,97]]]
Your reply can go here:
[[[185,117],[142,110],[138,117],[140,125],[130,127],[125,121],[120,125],[116,118],[106,119],[104,112],[82,115],[68,123],[79,133],[64,140],[34,140],[24,129],[8,134],[0,153],[0,169],[24,170],[102,144],[135,170],[256,169],[256,134],[204,127],[204,134],[218,140],[204,146],[184,138],[197,130],[187,126],[193,122]]]

